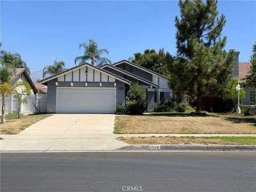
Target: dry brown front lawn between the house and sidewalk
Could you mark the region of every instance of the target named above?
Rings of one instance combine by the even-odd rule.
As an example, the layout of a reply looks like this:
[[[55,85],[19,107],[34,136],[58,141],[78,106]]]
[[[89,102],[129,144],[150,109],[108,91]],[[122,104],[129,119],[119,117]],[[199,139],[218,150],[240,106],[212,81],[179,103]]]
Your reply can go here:
[[[213,116],[119,115],[115,119],[115,132],[256,134],[255,122]]]

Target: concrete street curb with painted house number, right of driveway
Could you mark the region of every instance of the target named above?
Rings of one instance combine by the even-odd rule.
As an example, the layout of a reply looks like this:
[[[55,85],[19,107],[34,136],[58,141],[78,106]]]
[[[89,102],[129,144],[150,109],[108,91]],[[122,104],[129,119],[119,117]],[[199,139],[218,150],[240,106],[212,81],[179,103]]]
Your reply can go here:
[[[149,149],[152,146],[158,146],[156,149]],[[154,148],[154,147],[153,147]],[[120,147],[118,151],[159,151],[159,150],[193,150],[193,151],[210,151],[210,150],[253,150],[254,145],[130,145]]]

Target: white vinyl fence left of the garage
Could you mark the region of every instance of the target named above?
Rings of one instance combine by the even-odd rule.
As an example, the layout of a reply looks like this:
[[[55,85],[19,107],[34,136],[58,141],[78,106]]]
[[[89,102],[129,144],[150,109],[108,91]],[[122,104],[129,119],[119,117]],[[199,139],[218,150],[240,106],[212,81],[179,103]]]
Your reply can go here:
[[[35,95],[23,95],[28,99],[27,103],[21,105],[21,114],[33,114],[38,113],[36,108],[33,106],[34,103],[39,103],[41,113],[46,113],[47,106],[47,94],[35,94]],[[2,110],[2,95],[0,97],[0,106]],[[5,98],[5,114],[18,113],[19,103],[14,95],[7,95]]]

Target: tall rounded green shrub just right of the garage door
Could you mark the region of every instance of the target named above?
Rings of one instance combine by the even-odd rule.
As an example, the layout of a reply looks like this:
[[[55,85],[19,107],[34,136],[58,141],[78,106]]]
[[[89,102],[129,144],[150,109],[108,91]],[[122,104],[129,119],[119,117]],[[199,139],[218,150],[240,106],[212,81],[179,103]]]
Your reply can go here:
[[[125,106],[127,113],[141,115],[147,107],[146,89],[138,83],[134,83],[127,92]]]

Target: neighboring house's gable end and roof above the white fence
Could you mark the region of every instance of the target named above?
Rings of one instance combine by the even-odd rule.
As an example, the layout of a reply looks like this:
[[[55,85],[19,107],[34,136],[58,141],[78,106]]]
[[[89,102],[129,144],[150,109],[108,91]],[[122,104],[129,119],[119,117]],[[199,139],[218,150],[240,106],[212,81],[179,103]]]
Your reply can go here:
[[[29,74],[25,68],[15,68],[12,71],[11,82],[12,83],[28,82],[29,85],[31,86],[31,94],[37,93],[36,87],[35,87],[34,83],[32,82],[31,78],[29,77]]]

